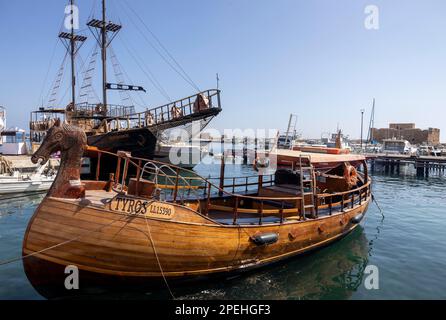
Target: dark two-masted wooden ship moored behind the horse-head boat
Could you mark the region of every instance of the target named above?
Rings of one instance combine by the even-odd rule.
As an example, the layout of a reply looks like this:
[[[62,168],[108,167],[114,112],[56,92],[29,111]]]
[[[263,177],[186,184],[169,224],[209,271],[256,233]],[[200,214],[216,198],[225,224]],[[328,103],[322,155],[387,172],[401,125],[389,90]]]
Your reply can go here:
[[[74,1],[70,0],[73,6]],[[33,151],[37,150],[46,132],[57,119],[62,119],[71,125],[84,130],[90,146],[102,150],[117,152],[118,150],[132,152],[135,156],[153,158],[157,139],[164,130],[184,126],[193,121],[202,121],[204,127],[221,112],[220,91],[217,89],[197,92],[189,97],[136,112],[128,92],[146,92],[142,86],[124,83],[123,70],[111,51],[111,43],[122,30],[122,26],[113,23],[106,16],[106,1],[102,0],[101,19],[91,19],[88,28],[97,41],[90,63],[86,64],[84,79],[79,92],[76,92],[76,56],[83,43],[84,35],[76,34],[74,24],[71,32],[60,32],[59,38],[67,49],[66,57],[71,64],[71,101],[66,107],[58,106],[58,91],[64,75],[65,60],[62,63],[48,97],[48,107],[40,107],[30,115],[30,138]],[[100,52],[99,52],[100,49]],[[96,98],[92,85],[97,56],[100,53],[102,62],[102,101],[92,103]],[[111,60],[117,83],[110,83],[107,74],[107,64]],[[198,90],[198,88],[197,88]],[[128,105],[115,105],[108,102],[108,92],[117,91],[125,98]],[[93,95],[93,93],[94,95]]]

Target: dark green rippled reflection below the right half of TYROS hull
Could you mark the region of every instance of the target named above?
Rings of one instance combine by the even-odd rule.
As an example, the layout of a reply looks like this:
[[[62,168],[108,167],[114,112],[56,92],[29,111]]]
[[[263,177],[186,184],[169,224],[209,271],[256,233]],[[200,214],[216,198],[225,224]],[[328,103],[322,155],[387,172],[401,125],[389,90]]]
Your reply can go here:
[[[232,281],[207,284],[180,299],[348,299],[362,284],[369,243],[362,228],[308,255]]]

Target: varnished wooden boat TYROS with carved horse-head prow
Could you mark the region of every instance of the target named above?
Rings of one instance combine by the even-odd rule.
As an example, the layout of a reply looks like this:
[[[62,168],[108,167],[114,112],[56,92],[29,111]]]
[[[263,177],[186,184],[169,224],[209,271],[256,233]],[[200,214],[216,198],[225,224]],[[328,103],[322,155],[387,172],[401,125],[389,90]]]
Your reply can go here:
[[[65,268],[82,283],[161,285],[263,267],[341,239],[358,227],[371,201],[363,173],[344,155],[319,172],[302,155],[294,170],[218,178],[153,160],[113,154],[107,180],[80,180],[83,130],[56,122],[34,162],[61,152],[61,167],[23,241],[24,269],[38,289],[64,290]],[[98,159],[102,157],[98,156]],[[129,167],[136,175],[129,176]],[[344,169],[348,175],[344,175]],[[165,282],[163,282],[165,281]],[[39,290],[39,289],[38,289]],[[65,291],[66,292],[66,291]]]

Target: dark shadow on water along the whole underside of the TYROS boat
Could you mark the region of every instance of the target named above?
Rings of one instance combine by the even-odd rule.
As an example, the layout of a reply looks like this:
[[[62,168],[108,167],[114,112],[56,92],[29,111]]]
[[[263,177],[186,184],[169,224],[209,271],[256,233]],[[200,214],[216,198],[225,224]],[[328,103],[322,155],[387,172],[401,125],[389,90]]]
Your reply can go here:
[[[369,242],[362,227],[340,241],[273,266],[234,276],[170,285],[175,299],[349,299],[363,282]],[[80,279],[81,280],[81,279]],[[81,288],[82,289],[82,288]],[[54,297],[53,297],[54,298]],[[89,287],[55,299],[171,299],[167,287]]]

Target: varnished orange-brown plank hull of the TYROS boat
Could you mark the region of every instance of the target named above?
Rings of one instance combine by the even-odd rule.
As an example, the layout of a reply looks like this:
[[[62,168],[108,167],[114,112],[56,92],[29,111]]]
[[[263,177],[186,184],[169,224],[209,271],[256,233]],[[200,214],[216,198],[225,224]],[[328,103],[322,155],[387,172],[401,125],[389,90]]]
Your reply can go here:
[[[163,276],[178,281],[241,272],[341,238],[358,226],[352,219],[365,214],[369,201],[318,219],[232,226],[181,206],[175,206],[171,220],[163,220],[46,197],[28,225],[23,256],[32,256],[23,262],[35,287],[63,288],[68,265],[79,268],[80,281],[105,279],[108,284],[160,284]],[[274,244],[251,240],[271,232],[279,236]]]

